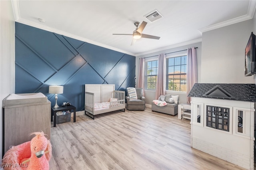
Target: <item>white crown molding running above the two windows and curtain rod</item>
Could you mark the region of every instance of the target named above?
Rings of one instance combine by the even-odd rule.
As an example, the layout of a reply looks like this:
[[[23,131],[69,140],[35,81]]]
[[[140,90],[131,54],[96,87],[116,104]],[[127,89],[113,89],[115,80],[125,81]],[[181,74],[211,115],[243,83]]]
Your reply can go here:
[[[154,49],[154,50],[138,53],[135,56],[136,57],[137,56],[142,56],[142,55],[145,55],[145,54],[151,54],[151,53],[154,53],[154,52],[164,51],[164,50],[168,50],[168,49],[171,49],[171,48],[176,48],[176,47],[180,47],[180,46],[186,46],[186,45],[194,44],[194,43],[198,43],[198,42],[202,42],[202,38],[198,38],[198,39],[190,40],[190,41],[186,41],[186,42],[181,42],[181,43],[178,43],[178,44],[172,44],[170,46],[165,46],[163,48],[157,48],[157,49]]]

